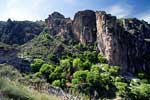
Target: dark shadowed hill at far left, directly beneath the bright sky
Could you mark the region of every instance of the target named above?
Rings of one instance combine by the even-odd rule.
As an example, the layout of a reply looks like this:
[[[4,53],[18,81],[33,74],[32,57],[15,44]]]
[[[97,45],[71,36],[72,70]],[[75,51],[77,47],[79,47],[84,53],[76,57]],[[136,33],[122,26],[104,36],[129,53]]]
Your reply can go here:
[[[43,26],[31,21],[0,22],[0,42],[7,44],[24,44],[40,34]]]

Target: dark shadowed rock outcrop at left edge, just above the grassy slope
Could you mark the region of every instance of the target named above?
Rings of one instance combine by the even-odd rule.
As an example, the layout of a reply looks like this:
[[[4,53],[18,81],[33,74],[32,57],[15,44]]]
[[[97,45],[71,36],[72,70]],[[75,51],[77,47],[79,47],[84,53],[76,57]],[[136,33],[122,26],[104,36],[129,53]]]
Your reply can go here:
[[[21,72],[31,71],[30,62],[19,58],[17,56],[18,51],[18,49],[13,47],[2,47],[2,44],[0,43],[0,64],[12,65]]]

